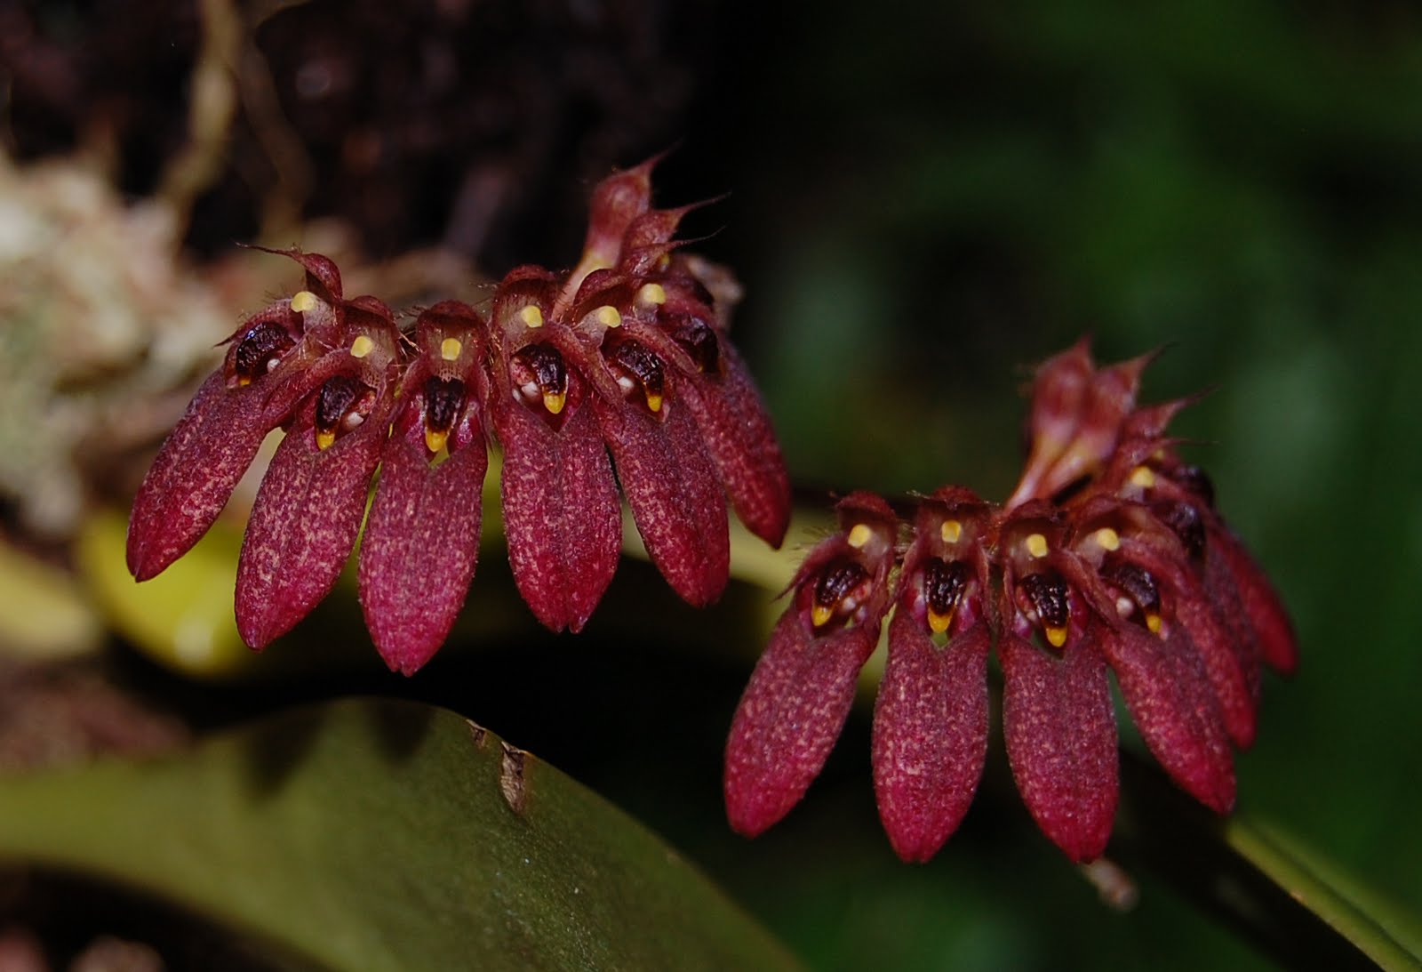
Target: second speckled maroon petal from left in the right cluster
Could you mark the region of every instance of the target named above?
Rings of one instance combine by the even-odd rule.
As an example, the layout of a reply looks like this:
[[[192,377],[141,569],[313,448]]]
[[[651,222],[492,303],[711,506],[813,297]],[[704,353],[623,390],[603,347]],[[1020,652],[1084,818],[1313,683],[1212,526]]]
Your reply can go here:
[[[875,794],[889,842],[906,861],[933,857],[977,793],[991,640],[978,620],[939,648],[903,606],[889,623],[889,663],[875,707]]]

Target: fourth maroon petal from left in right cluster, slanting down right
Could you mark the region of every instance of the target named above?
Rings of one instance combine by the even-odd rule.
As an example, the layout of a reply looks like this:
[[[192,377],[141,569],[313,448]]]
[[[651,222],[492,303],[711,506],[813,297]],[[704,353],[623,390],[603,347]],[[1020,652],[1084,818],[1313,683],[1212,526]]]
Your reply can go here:
[[[1219,704],[1183,626],[1166,638],[1098,622],[1095,635],[1130,717],[1166,773],[1216,813],[1234,805],[1234,766]]]

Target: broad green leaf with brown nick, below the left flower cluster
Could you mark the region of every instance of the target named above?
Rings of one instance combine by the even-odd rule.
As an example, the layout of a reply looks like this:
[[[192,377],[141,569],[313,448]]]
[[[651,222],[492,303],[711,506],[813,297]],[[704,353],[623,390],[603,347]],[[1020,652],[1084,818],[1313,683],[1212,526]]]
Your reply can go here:
[[[407,702],[0,778],[0,857],[119,879],[333,969],[796,966],[596,794]]]

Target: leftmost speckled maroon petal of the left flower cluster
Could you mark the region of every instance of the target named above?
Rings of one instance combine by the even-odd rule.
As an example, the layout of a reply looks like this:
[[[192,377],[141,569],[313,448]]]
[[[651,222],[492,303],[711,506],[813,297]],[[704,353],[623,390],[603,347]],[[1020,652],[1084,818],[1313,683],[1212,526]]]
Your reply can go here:
[[[263,421],[266,389],[208,377],[144,477],[128,524],[128,569],[158,575],[208,532],[274,426]]]

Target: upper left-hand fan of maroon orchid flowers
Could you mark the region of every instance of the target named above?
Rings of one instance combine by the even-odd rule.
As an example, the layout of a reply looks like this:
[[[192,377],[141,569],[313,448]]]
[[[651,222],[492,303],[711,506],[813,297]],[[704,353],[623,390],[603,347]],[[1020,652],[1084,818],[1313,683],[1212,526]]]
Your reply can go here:
[[[401,329],[378,299],[346,299],[331,260],[282,250],[304,289],[232,334],[158,453],[129,521],[134,576],[164,571],[208,531],[282,427],[237,564],[237,629],[255,649],[330,592],[364,519],[371,639],[391,669],[419,669],[474,578],[491,441],[513,579],[543,625],[582,629],[610,583],[619,484],[673,589],[715,601],[729,571],[727,498],[778,546],[789,480],[727,337],[737,287],[681,252],[690,206],[651,206],[654,162],[599,184],[572,272],[520,266],[486,315],[445,300]]]

